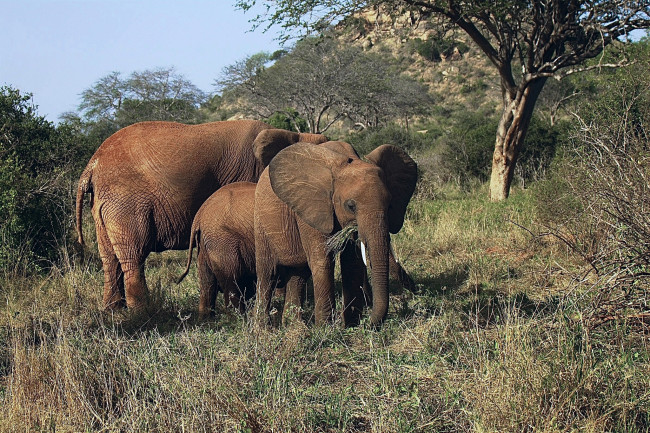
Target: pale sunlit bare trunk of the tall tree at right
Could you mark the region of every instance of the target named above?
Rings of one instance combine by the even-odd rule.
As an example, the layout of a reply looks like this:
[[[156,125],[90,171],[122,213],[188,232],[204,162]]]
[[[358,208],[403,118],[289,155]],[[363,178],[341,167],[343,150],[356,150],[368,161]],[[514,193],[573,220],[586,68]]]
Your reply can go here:
[[[490,175],[490,200],[502,201],[510,195],[517,157],[524,144],[528,126],[533,117],[537,97],[544,87],[545,78],[522,84],[514,97],[503,91],[503,112],[492,155]]]

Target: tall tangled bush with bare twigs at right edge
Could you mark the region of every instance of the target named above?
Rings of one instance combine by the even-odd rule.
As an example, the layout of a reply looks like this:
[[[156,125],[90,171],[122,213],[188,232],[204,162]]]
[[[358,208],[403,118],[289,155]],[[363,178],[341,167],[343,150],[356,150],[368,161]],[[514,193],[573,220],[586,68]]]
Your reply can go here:
[[[543,224],[597,276],[596,321],[650,307],[650,82],[641,69],[610,73],[584,103],[572,147],[539,200]]]

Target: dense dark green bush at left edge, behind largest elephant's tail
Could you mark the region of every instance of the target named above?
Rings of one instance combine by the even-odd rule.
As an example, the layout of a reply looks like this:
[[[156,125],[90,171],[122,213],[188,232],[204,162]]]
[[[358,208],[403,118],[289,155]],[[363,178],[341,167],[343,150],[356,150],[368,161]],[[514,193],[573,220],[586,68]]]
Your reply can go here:
[[[70,224],[69,177],[89,151],[73,126],[55,127],[30,100],[0,88],[0,269],[12,272],[56,260]]]

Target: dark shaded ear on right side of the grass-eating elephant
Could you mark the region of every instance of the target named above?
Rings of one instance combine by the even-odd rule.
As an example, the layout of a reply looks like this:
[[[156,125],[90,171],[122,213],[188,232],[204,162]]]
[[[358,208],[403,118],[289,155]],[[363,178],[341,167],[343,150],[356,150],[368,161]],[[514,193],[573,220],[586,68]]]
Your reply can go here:
[[[392,199],[388,208],[388,230],[397,233],[404,224],[406,207],[415,191],[418,166],[402,149],[384,144],[366,155],[366,159],[384,170]]]

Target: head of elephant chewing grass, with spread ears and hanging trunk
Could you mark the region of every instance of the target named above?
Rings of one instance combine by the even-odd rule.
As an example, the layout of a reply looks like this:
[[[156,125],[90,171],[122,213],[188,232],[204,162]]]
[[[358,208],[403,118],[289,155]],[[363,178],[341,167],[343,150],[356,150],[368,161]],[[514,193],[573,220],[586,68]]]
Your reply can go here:
[[[269,164],[271,188],[299,218],[325,236],[356,223],[370,260],[370,321],[378,325],[388,312],[389,233],[402,227],[417,165],[392,145],[377,148],[368,161],[336,151],[337,147],[340,143],[298,143],[280,151]]]

